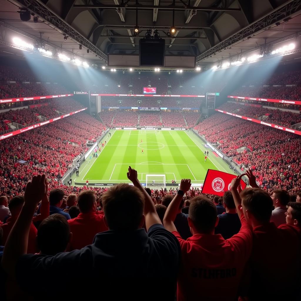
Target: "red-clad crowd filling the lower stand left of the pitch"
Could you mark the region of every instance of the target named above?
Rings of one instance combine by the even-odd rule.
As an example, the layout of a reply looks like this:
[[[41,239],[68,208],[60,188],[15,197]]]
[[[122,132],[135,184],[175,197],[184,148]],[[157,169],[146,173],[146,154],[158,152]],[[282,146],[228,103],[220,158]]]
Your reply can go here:
[[[96,141],[102,132],[103,125],[83,112],[1,141],[0,194],[23,194],[27,181],[41,172],[57,187],[73,160],[88,150],[87,140]]]

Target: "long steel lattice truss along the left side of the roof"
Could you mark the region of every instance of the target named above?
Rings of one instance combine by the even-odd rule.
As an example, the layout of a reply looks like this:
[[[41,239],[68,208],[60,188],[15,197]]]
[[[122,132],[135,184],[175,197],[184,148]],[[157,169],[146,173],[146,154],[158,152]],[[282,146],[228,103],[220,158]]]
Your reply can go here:
[[[89,49],[91,52],[96,54],[98,57],[102,58],[104,61],[107,61],[107,55],[104,54],[99,48],[93,45],[87,38],[82,36],[76,29],[70,26],[65,22],[61,17],[56,13],[46,7],[39,0],[13,0],[13,2],[19,7],[26,7],[30,12],[36,14],[45,23],[53,26],[55,29],[61,33],[66,34],[70,39],[74,40],[83,47]]]

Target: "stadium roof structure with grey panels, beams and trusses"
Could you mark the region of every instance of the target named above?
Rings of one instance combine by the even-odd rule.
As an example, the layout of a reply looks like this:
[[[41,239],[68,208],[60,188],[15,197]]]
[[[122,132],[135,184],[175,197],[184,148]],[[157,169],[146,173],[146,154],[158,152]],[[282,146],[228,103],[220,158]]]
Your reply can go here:
[[[109,54],[138,54],[147,30],[165,39],[166,55],[195,56],[200,67],[286,40],[298,43],[301,34],[301,0],[0,0],[0,5],[0,55],[22,55],[10,45],[11,36],[21,34],[100,65]],[[29,21],[20,20],[18,12],[25,9]]]

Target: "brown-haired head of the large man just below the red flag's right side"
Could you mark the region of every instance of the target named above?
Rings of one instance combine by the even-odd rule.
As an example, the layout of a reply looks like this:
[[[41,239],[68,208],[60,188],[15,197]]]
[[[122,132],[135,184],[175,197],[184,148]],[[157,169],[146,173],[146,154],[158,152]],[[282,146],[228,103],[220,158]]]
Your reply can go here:
[[[259,222],[268,222],[272,215],[273,201],[260,188],[247,188],[240,193],[242,203]]]

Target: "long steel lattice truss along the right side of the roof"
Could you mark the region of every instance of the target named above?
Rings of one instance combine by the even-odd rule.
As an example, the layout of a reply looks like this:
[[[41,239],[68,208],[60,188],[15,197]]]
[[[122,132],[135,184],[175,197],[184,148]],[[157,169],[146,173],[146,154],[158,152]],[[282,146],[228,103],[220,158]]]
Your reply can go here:
[[[282,21],[284,18],[289,17],[293,14],[296,14],[301,10],[301,0],[292,0],[289,3],[282,5],[280,8],[272,11],[271,13],[265,15],[261,19],[253,22],[249,26],[241,29],[237,33],[234,33],[229,38],[220,42],[214,47],[211,47],[209,50],[200,54],[197,57],[197,62],[204,60],[205,58],[213,55],[214,53],[224,50],[231,45],[240,42],[243,39],[246,39],[249,36],[254,35],[255,33],[259,33],[260,31],[266,29],[269,26],[272,26],[276,22]]]

